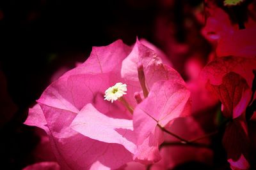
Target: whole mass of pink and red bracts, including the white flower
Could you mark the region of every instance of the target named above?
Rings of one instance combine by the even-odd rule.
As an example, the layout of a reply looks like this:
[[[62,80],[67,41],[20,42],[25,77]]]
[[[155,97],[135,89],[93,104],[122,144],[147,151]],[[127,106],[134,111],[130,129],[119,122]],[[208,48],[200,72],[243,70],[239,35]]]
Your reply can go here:
[[[154,46],[139,40],[132,47],[121,40],[93,47],[83,64],[52,82],[24,124],[44,129],[56,160],[26,169],[168,169],[189,160],[211,164],[211,141],[195,113],[218,101],[225,119],[218,130],[230,167],[253,169],[255,21],[249,18],[246,29],[238,29],[225,11],[210,6],[202,35],[216,55],[206,66],[190,60],[188,85],[165,55],[159,57]]]

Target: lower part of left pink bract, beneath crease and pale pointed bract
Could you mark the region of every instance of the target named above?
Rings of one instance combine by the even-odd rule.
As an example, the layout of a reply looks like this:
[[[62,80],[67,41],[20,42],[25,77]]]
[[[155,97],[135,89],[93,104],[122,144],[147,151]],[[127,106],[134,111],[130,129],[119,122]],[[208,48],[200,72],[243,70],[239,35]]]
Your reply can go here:
[[[72,130],[70,124],[77,113],[40,105],[51,130],[52,149],[61,167],[89,169],[95,161],[100,161],[104,166],[118,168],[132,160],[124,146],[96,141]]]

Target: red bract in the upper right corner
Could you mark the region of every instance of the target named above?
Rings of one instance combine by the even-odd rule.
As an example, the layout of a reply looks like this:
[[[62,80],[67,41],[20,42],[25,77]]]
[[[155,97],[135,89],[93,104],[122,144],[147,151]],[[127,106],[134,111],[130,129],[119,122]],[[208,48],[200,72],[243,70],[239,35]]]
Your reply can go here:
[[[255,31],[256,22],[248,17],[244,23],[245,29],[239,29],[237,24],[231,22],[228,13],[214,5],[209,9],[202,34],[212,43],[216,43],[216,55],[223,56],[256,56]]]

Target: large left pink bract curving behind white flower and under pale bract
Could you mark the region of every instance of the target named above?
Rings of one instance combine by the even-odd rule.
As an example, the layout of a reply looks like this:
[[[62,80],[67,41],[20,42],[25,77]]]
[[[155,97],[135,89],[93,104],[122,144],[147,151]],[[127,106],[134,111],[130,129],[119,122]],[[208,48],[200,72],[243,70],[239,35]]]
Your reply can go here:
[[[116,169],[132,161],[131,152],[124,146],[88,138],[70,127],[88,103],[110,117],[131,119],[131,115],[125,115],[126,109],[122,104],[111,104],[103,97],[108,87],[116,81],[122,82],[121,62],[129,49],[122,41],[93,48],[86,62],[54,81],[38,99],[49,128],[52,150],[64,169],[90,169],[97,161]],[[36,122],[35,125],[42,127],[45,122]]]

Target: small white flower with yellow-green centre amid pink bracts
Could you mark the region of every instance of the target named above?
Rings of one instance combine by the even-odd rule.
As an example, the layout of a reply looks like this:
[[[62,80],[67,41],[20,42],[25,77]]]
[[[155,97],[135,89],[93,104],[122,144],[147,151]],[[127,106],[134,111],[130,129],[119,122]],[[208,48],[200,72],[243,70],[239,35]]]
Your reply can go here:
[[[105,91],[104,100],[111,101],[111,103],[113,103],[113,101],[116,101],[119,97],[126,94],[126,87],[127,85],[124,83],[116,83],[114,86],[109,87],[109,89]]]

